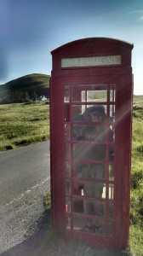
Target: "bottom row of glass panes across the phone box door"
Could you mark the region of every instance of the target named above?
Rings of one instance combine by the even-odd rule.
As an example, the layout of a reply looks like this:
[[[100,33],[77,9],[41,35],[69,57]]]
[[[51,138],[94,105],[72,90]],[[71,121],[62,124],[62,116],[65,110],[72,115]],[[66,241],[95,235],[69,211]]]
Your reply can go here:
[[[66,214],[66,230],[71,230],[71,216]],[[73,216],[73,230],[93,233],[97,236],[114,236],[114,222]]]

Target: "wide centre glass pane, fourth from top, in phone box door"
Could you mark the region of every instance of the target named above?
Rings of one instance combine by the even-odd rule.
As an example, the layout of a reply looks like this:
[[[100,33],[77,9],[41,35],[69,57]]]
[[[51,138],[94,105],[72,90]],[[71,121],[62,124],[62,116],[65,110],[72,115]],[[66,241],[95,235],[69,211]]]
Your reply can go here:
[[[94,143],[73,143],[74,160],[106,160],[106,145]]]

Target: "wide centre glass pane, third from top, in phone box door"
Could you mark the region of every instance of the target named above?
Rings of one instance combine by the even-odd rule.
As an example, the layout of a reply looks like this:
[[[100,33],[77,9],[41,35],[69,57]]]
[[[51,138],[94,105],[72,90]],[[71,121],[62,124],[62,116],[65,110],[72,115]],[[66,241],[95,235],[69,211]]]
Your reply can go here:
[[[106,142],[106,125],[72,125],[72,140]]]

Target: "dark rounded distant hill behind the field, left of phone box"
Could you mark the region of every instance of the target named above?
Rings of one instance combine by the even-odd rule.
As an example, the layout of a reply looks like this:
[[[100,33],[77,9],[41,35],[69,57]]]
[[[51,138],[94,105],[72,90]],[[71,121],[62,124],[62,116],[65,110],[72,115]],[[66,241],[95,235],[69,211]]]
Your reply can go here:
[[[33,73],[0,85],[1,102],[2,99],[16,92],[29,95],[34,92],[37,96],[44,95],[49,98],[49,78],[49,75]]]

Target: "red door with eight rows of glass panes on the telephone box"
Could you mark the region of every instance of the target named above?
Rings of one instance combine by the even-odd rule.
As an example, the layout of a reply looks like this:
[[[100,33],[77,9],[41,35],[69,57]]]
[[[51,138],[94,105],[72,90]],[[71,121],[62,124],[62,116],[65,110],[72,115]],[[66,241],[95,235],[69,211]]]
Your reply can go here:
[[[96,241],[108,239],[111,244],[122,243],[129,232],[129,194],[123,195],[121,181],[129,163],[120,151],[123,140],[128,141],[122,125],[129,125],[129,113],[117,109],[117,86],[121,90],[119,80],[102,83],[95,78],[89,84],[65,84],[64,88],[66,230],[92,234]],[[128,186],[127,177],[124,182]]]

